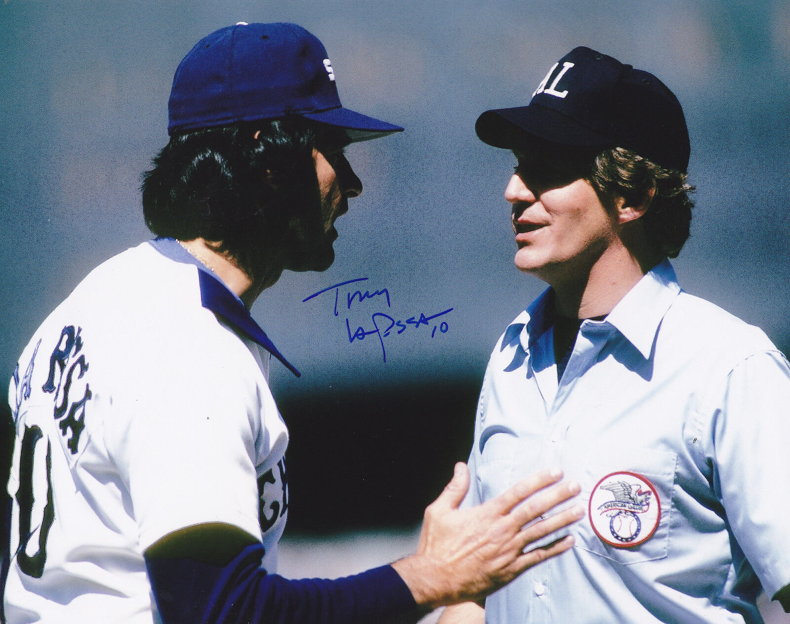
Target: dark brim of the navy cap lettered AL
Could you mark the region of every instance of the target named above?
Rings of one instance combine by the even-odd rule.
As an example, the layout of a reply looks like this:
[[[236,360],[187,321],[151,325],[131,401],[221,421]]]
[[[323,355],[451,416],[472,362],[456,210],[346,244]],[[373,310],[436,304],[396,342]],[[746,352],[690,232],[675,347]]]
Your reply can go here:
[[[534,138],[561,146],[611,146],[603,134],[540,104],[486,111],[477,118],[475,131],[481,141],[504,149],[529,146]]]

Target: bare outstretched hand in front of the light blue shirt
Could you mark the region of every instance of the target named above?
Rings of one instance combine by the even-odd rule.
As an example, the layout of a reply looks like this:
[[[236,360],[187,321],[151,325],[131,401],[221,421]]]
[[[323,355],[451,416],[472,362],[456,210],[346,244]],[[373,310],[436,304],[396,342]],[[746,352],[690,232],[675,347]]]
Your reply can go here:
[[[562,471],[542,471],[483,505],[458,509],[468,490],[469,471],[464,463],[457,463],[453,479],[425,510],[416,554],[393,563],[417,604],[434,609],[481,602],[525,569],[573,546],[574,539],[568,536],[525,552],[530,543],[585,513],[581,505],[574,505],[525,527],[579,493],[574,482],[548,487],[560,478]]]

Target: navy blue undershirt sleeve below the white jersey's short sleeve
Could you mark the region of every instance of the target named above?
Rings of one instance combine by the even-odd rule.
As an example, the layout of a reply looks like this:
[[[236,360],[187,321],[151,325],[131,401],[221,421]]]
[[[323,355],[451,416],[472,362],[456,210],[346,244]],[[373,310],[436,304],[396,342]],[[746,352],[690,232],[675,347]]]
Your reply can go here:
[[[391,565],[329,581],[292,581],[261,568],[246,546],[228,565],[145,558],[163,624],[363,624],[416,622],[423,613]]]

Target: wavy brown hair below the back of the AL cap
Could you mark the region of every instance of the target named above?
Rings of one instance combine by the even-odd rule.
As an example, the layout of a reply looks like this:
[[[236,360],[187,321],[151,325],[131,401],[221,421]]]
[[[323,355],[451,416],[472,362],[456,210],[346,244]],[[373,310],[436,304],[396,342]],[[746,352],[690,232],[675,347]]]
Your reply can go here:
[[[649,240],[656,251],[669,258],[680,253],[689,237],[694,207],[689,196],[694,187],[687,182],[687,174],[615,147],[595,157],[587,180],[604,206],[611,206],[615,197],[632,206],[649,201],[640,219]],[[649,199],[651,193],[653,198]]]

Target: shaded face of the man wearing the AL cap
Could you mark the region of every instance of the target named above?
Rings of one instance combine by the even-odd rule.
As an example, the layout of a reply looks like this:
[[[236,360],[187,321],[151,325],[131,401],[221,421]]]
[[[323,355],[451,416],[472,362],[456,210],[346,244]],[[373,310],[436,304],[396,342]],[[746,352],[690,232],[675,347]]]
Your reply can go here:
[[[580,168],[514,149],[518,166],[505,189],[519,270],[550,285],[585,277],[616,238],[615,221]]]

